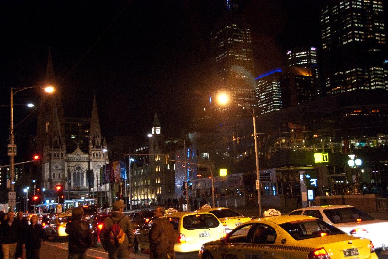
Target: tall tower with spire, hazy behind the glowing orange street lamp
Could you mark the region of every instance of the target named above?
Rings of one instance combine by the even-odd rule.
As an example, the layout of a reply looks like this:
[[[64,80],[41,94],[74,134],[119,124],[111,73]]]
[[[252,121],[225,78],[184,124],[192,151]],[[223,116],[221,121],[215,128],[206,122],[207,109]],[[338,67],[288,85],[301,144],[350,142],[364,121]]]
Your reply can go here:
[[[251,28],[226,0],[226,10],[211,31],[215,90],[227,90],[230,107],[255,105]]]

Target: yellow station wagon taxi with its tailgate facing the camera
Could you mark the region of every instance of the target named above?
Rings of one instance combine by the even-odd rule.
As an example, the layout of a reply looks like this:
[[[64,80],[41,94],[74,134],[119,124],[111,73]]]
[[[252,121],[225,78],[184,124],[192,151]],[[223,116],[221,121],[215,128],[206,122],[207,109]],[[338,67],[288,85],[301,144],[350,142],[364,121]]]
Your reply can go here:
[[[167,213],[165,217],[175,230],[175,252],[199,251],[202,244],[226,236],[221,221],[212,213],[175,212]]]

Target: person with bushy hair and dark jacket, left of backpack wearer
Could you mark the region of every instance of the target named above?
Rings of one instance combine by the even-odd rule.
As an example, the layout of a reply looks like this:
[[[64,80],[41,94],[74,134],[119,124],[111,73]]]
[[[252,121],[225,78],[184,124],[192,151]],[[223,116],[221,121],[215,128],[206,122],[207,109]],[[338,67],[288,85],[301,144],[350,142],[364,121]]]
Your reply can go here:
[[[68,259],[86,259],[86,250],[92,245],[92,230],[82,220],[84,212],[81,206],[74,208],[71,221],[66,224],[65,232],[69,235]]]

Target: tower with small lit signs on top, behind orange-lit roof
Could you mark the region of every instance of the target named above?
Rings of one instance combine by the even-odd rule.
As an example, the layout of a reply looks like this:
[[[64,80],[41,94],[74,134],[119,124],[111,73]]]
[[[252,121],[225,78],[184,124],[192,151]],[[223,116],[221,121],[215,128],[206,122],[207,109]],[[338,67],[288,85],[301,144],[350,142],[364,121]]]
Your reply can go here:
[[[318,69],[317,61],[317,48],[313,46],[304,46],[292,48],[287,51],[287,65],[310,68],[311,74],[315,79],[314,86],[316,89],[314,91],[316,96],[319,96],[321,92],[320,88],[320,75]]]

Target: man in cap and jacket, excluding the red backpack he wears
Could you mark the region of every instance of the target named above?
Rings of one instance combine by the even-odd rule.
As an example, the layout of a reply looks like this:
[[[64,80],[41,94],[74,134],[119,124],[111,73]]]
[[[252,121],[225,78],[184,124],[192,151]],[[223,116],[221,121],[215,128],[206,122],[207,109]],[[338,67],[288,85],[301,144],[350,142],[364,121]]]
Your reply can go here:
[[[123,201],[115,201],[113,203],[113,214],[106,217],[104,220],[104,228],[101,232],[101,244],[108,251],[109,259],[128,259],[129,253],[133,251],[133,229],[129,217],[124,216]],[[124,232],[124,241],[117,244],[112,244],[111,228],[113,224],[118,223]],[[110,237],[111,234],[111,237]]]

